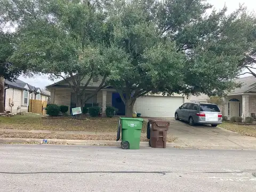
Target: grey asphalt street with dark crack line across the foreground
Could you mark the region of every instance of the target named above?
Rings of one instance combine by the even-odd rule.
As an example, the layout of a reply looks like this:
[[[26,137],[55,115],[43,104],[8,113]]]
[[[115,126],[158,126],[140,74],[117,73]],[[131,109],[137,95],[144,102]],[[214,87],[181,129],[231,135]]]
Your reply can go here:
[[[255,192],[255,172],[256,150],[0,145],[4,192]]]

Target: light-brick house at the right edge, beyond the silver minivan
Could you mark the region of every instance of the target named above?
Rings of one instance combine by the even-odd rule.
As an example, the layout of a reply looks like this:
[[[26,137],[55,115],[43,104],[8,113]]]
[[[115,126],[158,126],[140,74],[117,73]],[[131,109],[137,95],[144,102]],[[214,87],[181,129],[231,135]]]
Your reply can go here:
[[[243,77],[236,80],[242,86],[227,94],[222,98],[223,105],[219,106],[222,115],[229,119],[233,116],[250,117],[251,113],[256,114],[256,78],[254,76]],[[190,96],[189,101],[209,101],[209,97],[201,94],[198,97]]]

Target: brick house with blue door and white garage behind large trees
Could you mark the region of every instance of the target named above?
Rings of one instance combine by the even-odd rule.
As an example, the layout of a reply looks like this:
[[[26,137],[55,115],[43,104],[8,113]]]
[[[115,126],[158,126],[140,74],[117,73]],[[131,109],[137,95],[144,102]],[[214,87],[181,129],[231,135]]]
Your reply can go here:
[[[70,79],[67,80],[73,84]],[[86,81],[87,79],[83,79],[82,83],[85,83]],[[91,82],[85,91],[85,95],[90,94],[97,89],[100,83],[101,78],[91,79]],[[70,112],[71,108],[76,107],[74,91],[66,81],[62,80],[49,85],[47,86],[47,89],[51,92],[51,103],[66,105],[69,107]],[[172,97],[147,95],[137,99],[133,110],[137,113],[141,113],[143,117],[174,117],[175,110],[185,101],[186,98],[182,95],[174,95]],[[93,98],[86,101],[85,106],[102,107],[102,115],[105,115],[104,112],[107,106],[113,106],[118,109],[117,115],[125,115],[125,105],[120,95],[111,86],[107,86],[105,89],[100,90]]]

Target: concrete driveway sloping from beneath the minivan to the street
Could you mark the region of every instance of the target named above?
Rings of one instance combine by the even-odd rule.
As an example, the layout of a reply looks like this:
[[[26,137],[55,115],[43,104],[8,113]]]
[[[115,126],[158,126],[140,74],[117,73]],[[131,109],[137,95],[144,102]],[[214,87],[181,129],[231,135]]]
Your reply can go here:
[[[254,137],[247,137],[220,127],[190,126],[173,118],[167,120],[171,122],[168,133],[178,138],[174,141],[177,147],[256,149]]]

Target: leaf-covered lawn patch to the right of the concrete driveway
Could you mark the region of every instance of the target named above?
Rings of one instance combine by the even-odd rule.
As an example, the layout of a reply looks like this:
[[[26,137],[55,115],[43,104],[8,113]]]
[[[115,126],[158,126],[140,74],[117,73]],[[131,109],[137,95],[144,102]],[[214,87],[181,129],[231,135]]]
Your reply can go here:
[[[239,134],[256,137],[256,125],[241,125],[232,122],[223,122],[219,125],[219,127],[234,131]]]

